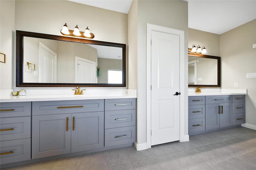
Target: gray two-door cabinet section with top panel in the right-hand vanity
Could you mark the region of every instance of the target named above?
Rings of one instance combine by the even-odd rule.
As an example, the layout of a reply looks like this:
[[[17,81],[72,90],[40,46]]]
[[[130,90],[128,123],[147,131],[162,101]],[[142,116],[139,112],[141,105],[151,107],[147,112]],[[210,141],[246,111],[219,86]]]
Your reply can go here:
[[[232,125],[232,96],[206,96],[206,130]]]

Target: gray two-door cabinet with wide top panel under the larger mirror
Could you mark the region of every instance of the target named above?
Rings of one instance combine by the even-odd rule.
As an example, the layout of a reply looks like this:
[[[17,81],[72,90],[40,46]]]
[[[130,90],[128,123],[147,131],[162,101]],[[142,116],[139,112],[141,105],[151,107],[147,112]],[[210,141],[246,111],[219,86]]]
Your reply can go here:
[[[104,100],[32,102],[32,158],[104,147]]]

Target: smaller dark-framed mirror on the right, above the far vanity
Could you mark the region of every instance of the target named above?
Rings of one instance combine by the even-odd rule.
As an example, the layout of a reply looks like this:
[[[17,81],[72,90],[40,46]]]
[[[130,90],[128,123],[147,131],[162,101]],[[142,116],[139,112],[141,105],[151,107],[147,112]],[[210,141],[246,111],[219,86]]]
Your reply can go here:
[[[188,53],[188,87],[220,87],[220,57]]]

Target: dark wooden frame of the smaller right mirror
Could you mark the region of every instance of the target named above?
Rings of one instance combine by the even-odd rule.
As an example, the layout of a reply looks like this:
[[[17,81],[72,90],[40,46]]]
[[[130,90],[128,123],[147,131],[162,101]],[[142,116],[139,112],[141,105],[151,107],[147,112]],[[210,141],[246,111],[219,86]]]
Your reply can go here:
[[[203,58],[208,58],[208,59],[217,59],[217,62],[218,62],[218,84],[217,85],[197,84],[197,85],[188,85],[188,87],[220,87],[220,57],[211,56],[211,55],[202,55],[202,54],[190,53],[190,52],[188,52],[188,56],[191,56],[191,57],[203,57]]]

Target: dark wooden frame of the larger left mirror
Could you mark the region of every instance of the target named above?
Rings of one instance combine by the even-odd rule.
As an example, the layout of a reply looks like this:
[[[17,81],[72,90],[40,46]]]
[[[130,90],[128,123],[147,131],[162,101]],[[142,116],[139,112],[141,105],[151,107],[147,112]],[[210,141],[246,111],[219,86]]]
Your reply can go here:
[[[122,84],[89,84],[89,83],[24,83],[23,82],[23,39],[24,37],[34,37],[43,39],[53,39],[60,41],[70,41],[77,43],[87,43],[122,48]],[[59,35],[49,35],[43,33],[33,33],[16,30],[16,87],[126,87],[126,44],[96,41],[92,39],[82,39],[74,37],[64,37]]]

